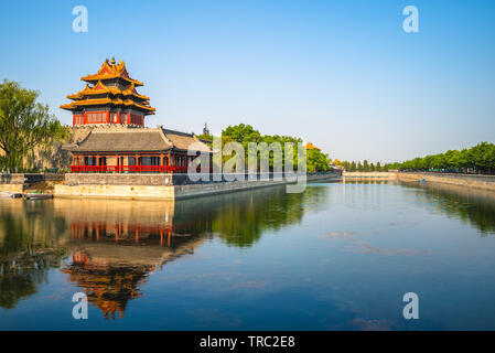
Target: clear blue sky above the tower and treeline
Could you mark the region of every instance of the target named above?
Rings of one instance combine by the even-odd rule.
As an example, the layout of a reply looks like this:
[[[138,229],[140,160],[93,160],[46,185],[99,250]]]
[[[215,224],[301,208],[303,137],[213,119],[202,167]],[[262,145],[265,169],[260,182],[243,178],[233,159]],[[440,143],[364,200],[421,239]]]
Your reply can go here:
[[[75,6],[88,32],[72,29]],[[419,33],[402,9],[419,10]],[[0,78],[58,108],[106,57],[164,125],[250,124],[341,160],[495,142],[495,1],[2,1]]]

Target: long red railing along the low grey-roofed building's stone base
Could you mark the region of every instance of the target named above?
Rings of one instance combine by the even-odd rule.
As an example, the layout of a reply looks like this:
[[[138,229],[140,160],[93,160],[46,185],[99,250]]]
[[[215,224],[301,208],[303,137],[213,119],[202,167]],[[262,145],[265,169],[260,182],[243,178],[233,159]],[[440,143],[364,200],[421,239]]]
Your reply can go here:
[[[186,173],[179,165],[71,165],[73,173]]]

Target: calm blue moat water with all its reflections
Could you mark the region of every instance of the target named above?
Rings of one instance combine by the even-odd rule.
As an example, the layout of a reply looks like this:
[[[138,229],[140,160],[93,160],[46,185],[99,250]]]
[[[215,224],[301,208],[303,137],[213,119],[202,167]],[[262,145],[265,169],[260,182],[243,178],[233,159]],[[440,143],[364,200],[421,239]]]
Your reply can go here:
[[[0,329],[494,330],[494,200],[387,182],[3,199]],[[78,291],[88,320],[72,318]],[[420,320],[402,318],[409,291]]]

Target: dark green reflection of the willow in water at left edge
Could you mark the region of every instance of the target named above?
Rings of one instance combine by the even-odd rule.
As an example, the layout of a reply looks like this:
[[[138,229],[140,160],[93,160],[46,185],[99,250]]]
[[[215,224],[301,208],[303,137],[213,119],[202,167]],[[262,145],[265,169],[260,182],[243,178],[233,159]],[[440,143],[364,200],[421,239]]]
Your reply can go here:
[[[8,201],[0,212],[0,307],[36,293],[66,256],[65,221],[40,203]]]

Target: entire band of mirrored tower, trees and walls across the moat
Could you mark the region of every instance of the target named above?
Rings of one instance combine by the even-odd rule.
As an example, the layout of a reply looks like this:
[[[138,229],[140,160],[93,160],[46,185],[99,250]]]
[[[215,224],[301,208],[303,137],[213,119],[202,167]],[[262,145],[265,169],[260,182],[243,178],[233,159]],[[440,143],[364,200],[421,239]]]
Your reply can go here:
[[[385,180],[345,183],[399,188]],[[302,223],[308,213],[335,207],[340,199],[332,193],[342,191],[336,186],[312,184],[300,194],[288,194],[280,186],[177,202],[1,200],[0,307],[15,308],[56,269],[86,292],[104,318],[123,318],[130,301],[146,297],[143,284],[153,271],[165,270],[166,264],[214,238],[229,247],[254,247],[268,232],[281,232]],[[483,233],[495,232],[493,193],[449,185],[403,186],[433,212],[461,218]],[[365,194],[356,190],[363,199]],[[343,208],[335,212],[344,214]]]

